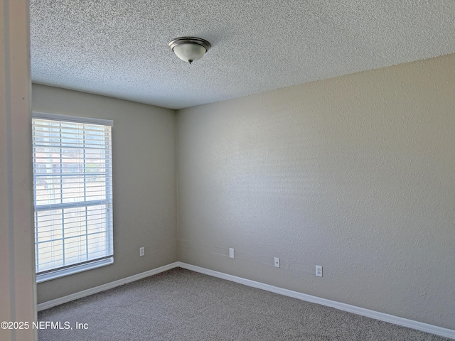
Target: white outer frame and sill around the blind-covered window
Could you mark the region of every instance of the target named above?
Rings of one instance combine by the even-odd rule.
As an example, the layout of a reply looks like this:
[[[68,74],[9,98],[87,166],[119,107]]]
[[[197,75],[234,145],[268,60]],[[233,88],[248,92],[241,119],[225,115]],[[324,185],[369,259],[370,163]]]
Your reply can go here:
[[[63,276],[68,276],[71,274],[77,274],[82,271],[87,271],[91,269],[97,269],[102,266],[107,266],[110,264],[114,263],[114,229],[113,229],[113,193],[112,193],[112,130],[113,130],[113,121],[109,119],[95,119],[91,117],[79,117],[79,116],[70,116],[70,115],[62,115],[62,114],[50,114],[50,113],[45,113],[45,112],[32,112],[32,120],[33,119],[48,119],[48,120],[53,120],[53,121],[66,121],[70,123],[81,123],[81,124],[97,124],[97,125],[102,125],[102,126],[110,126],[111,128],[111,134],[110,134],[110,151],[109,155],[105,157],[106,161],[109,161],[109,174],[106,177],[106,195],[107,198],[103,201],[107,202],[107,205],[111,207],[111,212],[107,212],[107,229],[108,232],[110,233],[109,235],[109,249],[111,250],[110,255],[102,257],[101,259],[92,259],[89,261],[84,261],[80,262],[77,264],[71,264],[70,266],[64,266],[60,267],[58,269],[49,269],[46,271],[43,271],[43,273],[36,274],[36,283],[42,283],[44,281],[50,281],[55,278],[60,278]],[[33,126],[33,121],[32,121],[32,126]],[[36,168],[36,162],[35,162],[35,140],[34,140],[34,134],[32,134],[32,148],[33,148],[33,170]],[[36,215],[37,212],[43,209],[43,207],[40,206],[45,206],[45,205],[36,205],[36,176],[35,176],[35,171],[33,171],[33,222],[34,222],[34,236],[35,236],[35,242],[34,246],[36,248]],[[108,188],[109,186],[109,188]],[[84,184],[83,188],[86,188],[86,184]],[[88,201],[85,201],[88,202]],[[83,202],[82,202],[83,203]],[[56,209],[64,209],[65,208],[65,203],[60,203],[60,204],[54,204],[53,205]],[[83,207],[83,205],[80,205]],[[38,210],[37,210],[38,207]],[[86,206],[87,207],[87,206]],[[36,254],[36,250],[35,250]],[[35,260],[35,268],[36,268],[36,260]]]

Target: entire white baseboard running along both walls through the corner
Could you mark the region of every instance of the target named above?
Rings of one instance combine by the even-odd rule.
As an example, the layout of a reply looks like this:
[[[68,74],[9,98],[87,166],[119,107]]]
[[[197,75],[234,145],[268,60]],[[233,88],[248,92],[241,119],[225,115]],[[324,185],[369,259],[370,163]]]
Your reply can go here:
[[[167,271],[167,270],[170,270],[173,268],[177,268],[177,267],[181,267],[183,269],[188,269],[191,271],[196,271],[196,272],[199,272],[200,274],[206,274],[206,275],[213,276],[213,277],[227,279],[228,281],[244,284],[245,286],[252,286],[253,288],[259,288],[262,290],[271,291],[272,293],[279,293],[284,296],[298,298],[299,300],[302,300],[302,301],[326,305],[328,307],[336,308],[338,310],[347,311],[348,313],[354,313],[357,315],[366,316],[367,318],[375,318],[376,320],[393,323],[395,325],[402,325],[403,327],[420,330],[422,332],[429,332],[429,333],[432,333],[435,335],[449,337],[449,338],[455,340],[455,330],[441,328],[441,327],[437,327],[436,325],[429,325],[427,323],[422,323],[422,322],[418,322],[418,321],[414,321],[414,320],[408,320],[407,318],[399,318],[398,316],[395,316],[395,315],[380,313],[375,310],[356,307],[355,305],[349,305],[346,303],[331,301],[331,300],[327,300],[326,298],[320,298],[320,297],[316,297],[316,296],[306,295],[306,293],[299,293],[297,291],[291,291],[288,289],[279,288],[277,286],[270,286],[269,284],[264,284],[264,283],[260,283],[257,281],[251,281],[250,279],[247,279],[247,278],[232,276],[232,275],[224,274],[223,272],[218,272],[218,271],[201,268],[200,266],[182,263],[181,261],[176,261],[174,263],[171,263],[171,264],[168,264],[165,266],[161,266],[161,267],[153,269],[153,270],[142,272],[141,274],[119,279],[118,281],[106,283],[106,284],[103,284],[102,286],[95,286],[95,288],[90,288],[90,289],[87,289],[84,291],[79,291],[78,293],[73,293],[68,296],[56,298],[55,300],[52,300],[52,301],[40,303],[37,305],[37,310],[40,311],[40,310],[52,308],[55,305],[60,305],[63,303],[74,301],[74,300],[77,300],[77,298],[89,296],[94,293],[100,293],[101,291],[112,289],[112,288],[115,288],[116,286],[122,286],[123,284],[137,281],[141,278],[156,275],[156,274],[159,274],[160,272],[164,272],[164,271]]]

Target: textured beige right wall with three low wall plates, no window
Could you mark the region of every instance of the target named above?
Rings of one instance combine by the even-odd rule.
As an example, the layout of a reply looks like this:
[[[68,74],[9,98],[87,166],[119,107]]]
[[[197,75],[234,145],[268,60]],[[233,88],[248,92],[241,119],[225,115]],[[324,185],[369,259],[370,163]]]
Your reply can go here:
[[[447,55],[181,110],[179,260],[455,329],[454,109]]]

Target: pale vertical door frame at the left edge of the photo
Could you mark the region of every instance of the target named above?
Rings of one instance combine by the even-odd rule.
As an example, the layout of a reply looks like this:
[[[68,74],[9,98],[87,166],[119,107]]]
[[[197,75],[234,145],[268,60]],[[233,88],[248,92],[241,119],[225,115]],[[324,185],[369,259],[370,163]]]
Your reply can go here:
[[[0,328],[10,341],[37,340],[28,8],[0,0],[0,322],[23,328]]]

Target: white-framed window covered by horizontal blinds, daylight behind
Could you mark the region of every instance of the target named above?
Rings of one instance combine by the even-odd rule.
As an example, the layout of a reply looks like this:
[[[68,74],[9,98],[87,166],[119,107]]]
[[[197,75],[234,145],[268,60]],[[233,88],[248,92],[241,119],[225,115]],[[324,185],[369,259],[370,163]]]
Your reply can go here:
[[[112,264],[112,121],[33,113],[38,282]]]

